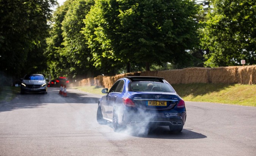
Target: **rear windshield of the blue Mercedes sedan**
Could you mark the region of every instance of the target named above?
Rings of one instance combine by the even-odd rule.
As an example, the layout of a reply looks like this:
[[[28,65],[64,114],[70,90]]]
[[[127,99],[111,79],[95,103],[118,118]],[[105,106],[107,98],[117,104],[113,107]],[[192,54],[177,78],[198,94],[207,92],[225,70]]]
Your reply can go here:
[[[150,82],[150,81],[131,82],[129,91],[153,91],[153,92],[159,91],[159,92],[175,93],[173,88],[167,83]]]

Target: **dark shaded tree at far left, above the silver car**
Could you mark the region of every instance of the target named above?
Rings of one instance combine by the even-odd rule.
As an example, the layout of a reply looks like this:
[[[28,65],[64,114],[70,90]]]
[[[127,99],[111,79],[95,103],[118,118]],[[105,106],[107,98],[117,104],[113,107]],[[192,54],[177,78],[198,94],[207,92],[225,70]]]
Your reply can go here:
[[[15,77],[43,71],[42,49],[55,4],[56,0],[0,0],[1,71]]]

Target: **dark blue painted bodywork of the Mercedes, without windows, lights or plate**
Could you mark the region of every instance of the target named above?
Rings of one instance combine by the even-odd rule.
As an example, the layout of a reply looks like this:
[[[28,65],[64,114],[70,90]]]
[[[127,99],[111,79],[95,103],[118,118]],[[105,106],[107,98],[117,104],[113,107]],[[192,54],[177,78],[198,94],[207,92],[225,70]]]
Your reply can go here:
[[[186,108],[177,108],[177,103],[182,100],[182,98],[179,97],[175,91],[174,93],[160,91],[129,91],[129,83],[131,82],[129,78],[121,78],[119,80],[124,81],[123,91],[121,93],[108,92],[105,96],[99,99],[99,105],[104,119],[112,122],[113,111],[116,110],[119,119],[118,124],[120,125],[150,123],[175,127],[180,125],[183,126],[185,124]],[[116,81],[116,83],[119,82],[119,80]],[[166,80],[163,80],[163,83],[169,84]],[[172,88],[171,85],[170,87]],[[112,88],[110,88],[109,91],[111,91]],[[155,96],[158,96],[159,98],[154,99]],[[124,97],[131,99],[136,106],[125,106],[123,104]],[[148,100],[167,101],[167,106],[148,106],[146,102]]]

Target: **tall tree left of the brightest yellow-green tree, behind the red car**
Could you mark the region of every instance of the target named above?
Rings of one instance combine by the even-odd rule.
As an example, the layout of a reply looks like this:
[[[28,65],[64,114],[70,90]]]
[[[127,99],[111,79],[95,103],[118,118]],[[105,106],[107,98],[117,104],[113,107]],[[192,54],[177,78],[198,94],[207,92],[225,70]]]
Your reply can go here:
[[[69,74],[73,77],[97,74],[91,61],[93,56],[85,44],[85,36],[81,33],[82,28],[85,27],[83,19],[92,5],[94,5],[94,0],[74,0],[62,22],[65,49],[62,55],[67,57],[67,61],[71,65]]]

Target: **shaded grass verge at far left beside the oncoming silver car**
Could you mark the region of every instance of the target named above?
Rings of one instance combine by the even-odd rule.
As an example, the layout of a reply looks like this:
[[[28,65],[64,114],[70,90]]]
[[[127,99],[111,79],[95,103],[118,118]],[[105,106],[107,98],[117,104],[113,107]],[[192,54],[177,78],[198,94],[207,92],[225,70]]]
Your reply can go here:
[[[0,102],[9,102],[20,93],[20,87],[3,86],[0,89]]]

